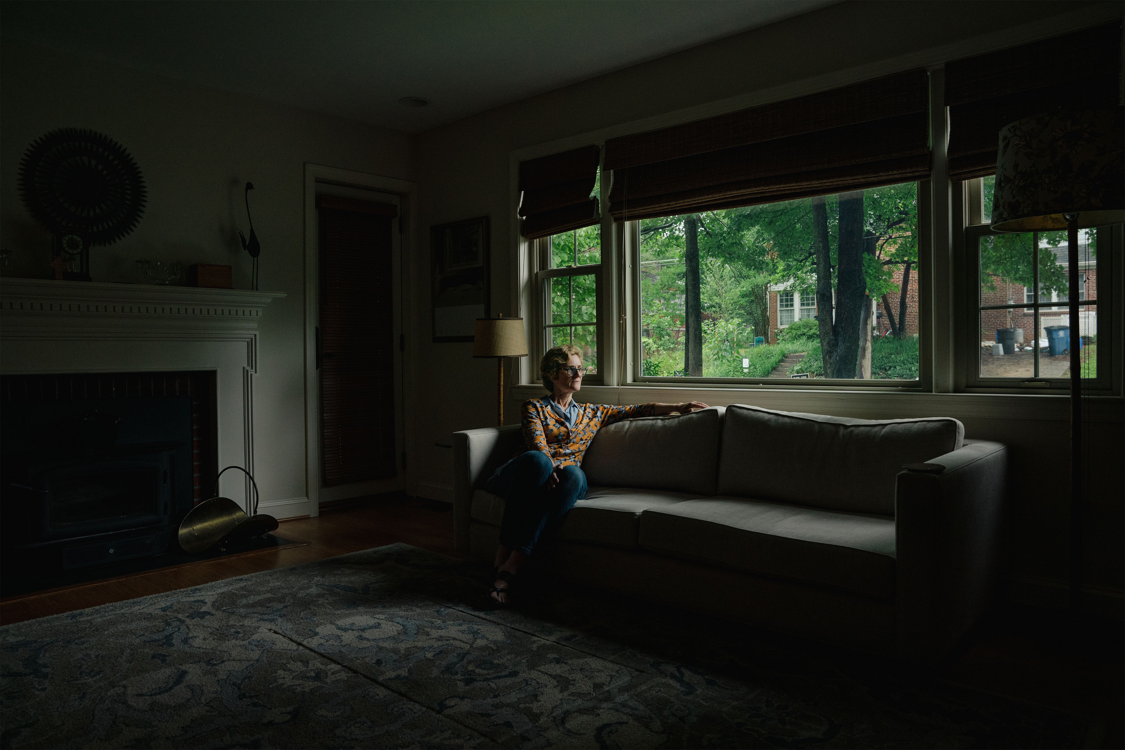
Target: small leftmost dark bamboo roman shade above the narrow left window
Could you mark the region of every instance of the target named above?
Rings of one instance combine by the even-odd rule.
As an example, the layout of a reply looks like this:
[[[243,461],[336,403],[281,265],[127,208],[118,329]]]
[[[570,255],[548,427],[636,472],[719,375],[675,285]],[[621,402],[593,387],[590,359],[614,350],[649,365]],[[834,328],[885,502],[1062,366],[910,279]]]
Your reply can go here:
[[[529,240],[593,226],[601,219],[597,199],[597,146],[520,162],[520,216]]]

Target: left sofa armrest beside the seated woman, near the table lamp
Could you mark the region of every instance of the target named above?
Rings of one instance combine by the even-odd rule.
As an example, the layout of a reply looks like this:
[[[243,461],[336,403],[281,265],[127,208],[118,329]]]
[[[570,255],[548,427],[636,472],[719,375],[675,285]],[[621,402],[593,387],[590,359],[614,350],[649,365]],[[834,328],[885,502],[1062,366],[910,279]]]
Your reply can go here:
[[[472,493],[515,454],[522,441],[520,425],[453,433],[453,546],[458,552],[469,553]]]

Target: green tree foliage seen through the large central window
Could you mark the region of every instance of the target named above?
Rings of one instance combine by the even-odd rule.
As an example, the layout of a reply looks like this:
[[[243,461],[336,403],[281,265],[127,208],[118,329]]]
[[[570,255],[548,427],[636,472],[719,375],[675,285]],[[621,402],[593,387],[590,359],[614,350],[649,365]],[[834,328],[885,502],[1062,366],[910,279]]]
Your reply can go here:
[[[838,296],[840,265],[840,198],[827,196],[813,210],[803,198],[764,206],[706,211],[688,216],[644,219],[641,236],[641,331],[644,371],[654,376],[685,372],[687,220],[694,224],[699,246],[700,297],[704,377],[763,377],[748,372],[754,336],[768,332],[768,288],[827,290]],[[837,319],[849,329],[850,361],[840,371],[855,371],[861,306],[871,298],[900,292],[894,271],[918,260],[917,187],[914,183],[856,193],[855,208],[845,210],[845,249],[854,256],[849,299],[836,302]],[[818,263],[817,241],[821,241]],[[850,243],[850,244],[849,244]],[[830,301],[829,301],[830,304]],[[820,309],[826,309],[820,305]],[[842,315],[843,313],[843,315]],[[831,319],[829,318],[829,326]],[[803,324],[808,326],[809,324]],[[824,338],[824,336],[821,336]],[[721,344],[720,344],[721,340]],[[826,342],[821,341],[821,344]],[[818,353],[818,356],[822,356]]]

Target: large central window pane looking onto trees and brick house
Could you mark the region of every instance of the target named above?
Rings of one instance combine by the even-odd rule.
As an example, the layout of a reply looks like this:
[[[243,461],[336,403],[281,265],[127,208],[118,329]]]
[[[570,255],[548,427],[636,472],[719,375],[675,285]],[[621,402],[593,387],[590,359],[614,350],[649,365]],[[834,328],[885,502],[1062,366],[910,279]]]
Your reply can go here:
[[[918,186],[638,223],[640,378],[916,380]]]

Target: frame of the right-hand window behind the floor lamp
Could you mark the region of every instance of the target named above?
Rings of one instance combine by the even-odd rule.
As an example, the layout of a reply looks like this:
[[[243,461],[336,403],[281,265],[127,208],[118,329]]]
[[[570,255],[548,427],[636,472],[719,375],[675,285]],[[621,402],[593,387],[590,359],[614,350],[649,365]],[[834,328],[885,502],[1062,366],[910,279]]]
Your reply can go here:
[[[975,182],[976,188],[969,184]],[[1035,301],[1028,305],[1026,301],[1026,287],[1024,299],[1018,302],[1011,302],[1007,305],[981,305],[981,290],[980,290],[980,242],[983,237],[988,236],[999,236],[1008,233],[994,232],[989,224],[983,224],[982,211],[981,211],[981,198],[982,193],[979,188],[981,182],[980,178],[974,180],[965,180],[962,184],[964,190],[962,191],[963,198],[966,202],[965,220],[966,226],[963,227],[961,235],[962,247],[964,250],[964,273],[960,274],[960,282],[963,286],[961,299],[961,317],[963,325],[958,326],[961,332],[961,342],[957,346],[957,364],[962,370],[962,382],[964,383],[958,390],[964,392],[1006,392],[1010,394],[1014,391],[1027,392],[1028,389],[1036,389],[1041,391],[1055,391],[1055,392],[1070,392],[1070,378],[1051,378],[1045,376],[1037,376],[1030,378],[1000,378],[994,376],[981,376],[980,373],[980,356],[981,350],[980,345],[980,315],[983,309],[1015,309],[1024,310],[1028,307],[1036,310],[1035,313],[1035,332],[1032,335],[1033,340],[1036,340],[1036,344],[1033,351],[1035,351],[1035,362],[1036,370],[1038,370],[1038,329],[1042,327],[1040,315],[1043,310],[1048,311],[1068,311],[1069,306],[1059,309],[1058,302],[1055,300],[1047,301]],[[973,205],[975,202],[975,206]],[[975,220],[975,224],[968,224],[968,222]],[[1114,279],[1114,256],[1119,253],[1120,237],[1122,237],[1122,225],[1109,225],[1097,227],[1096,232],[1098,238],[1098,246],[1104,249],[1104,252],[1098,253],[1098,257],[1095,265],[1095,271],[1098,278],[1106,277],[1107,279]],[[1029,234],[1029,233],[1027,233]],[[1038,252],[1038,249],[1035,249]],[[1034,262],[1034,288],[1038,290],[1038,263],[1037,259]],[[1082,273],[1086,277],[1086,273]],[[1102,297],[1100,293],[1095,300],[1084,300],[1084,284],[1082,288],[1082,293],[1079,299],[1087,307],[1094,307],[1097,309],[1098,316],[1098,372],[1094,378],[1082,378],[1082,391],[1087,390],[1096,392],[1099,396],[1109,396],[1116,390],[1116,382],[1119,379],[1119,374],[1114,372],[1116,367],[1116,355],[1115,342],[1114,342],[1114,300],[1113,300],[1113,287],[1110,282],[1108,284],[1109,293]],[[1026,334],[1025,334],[1026,341]]]

